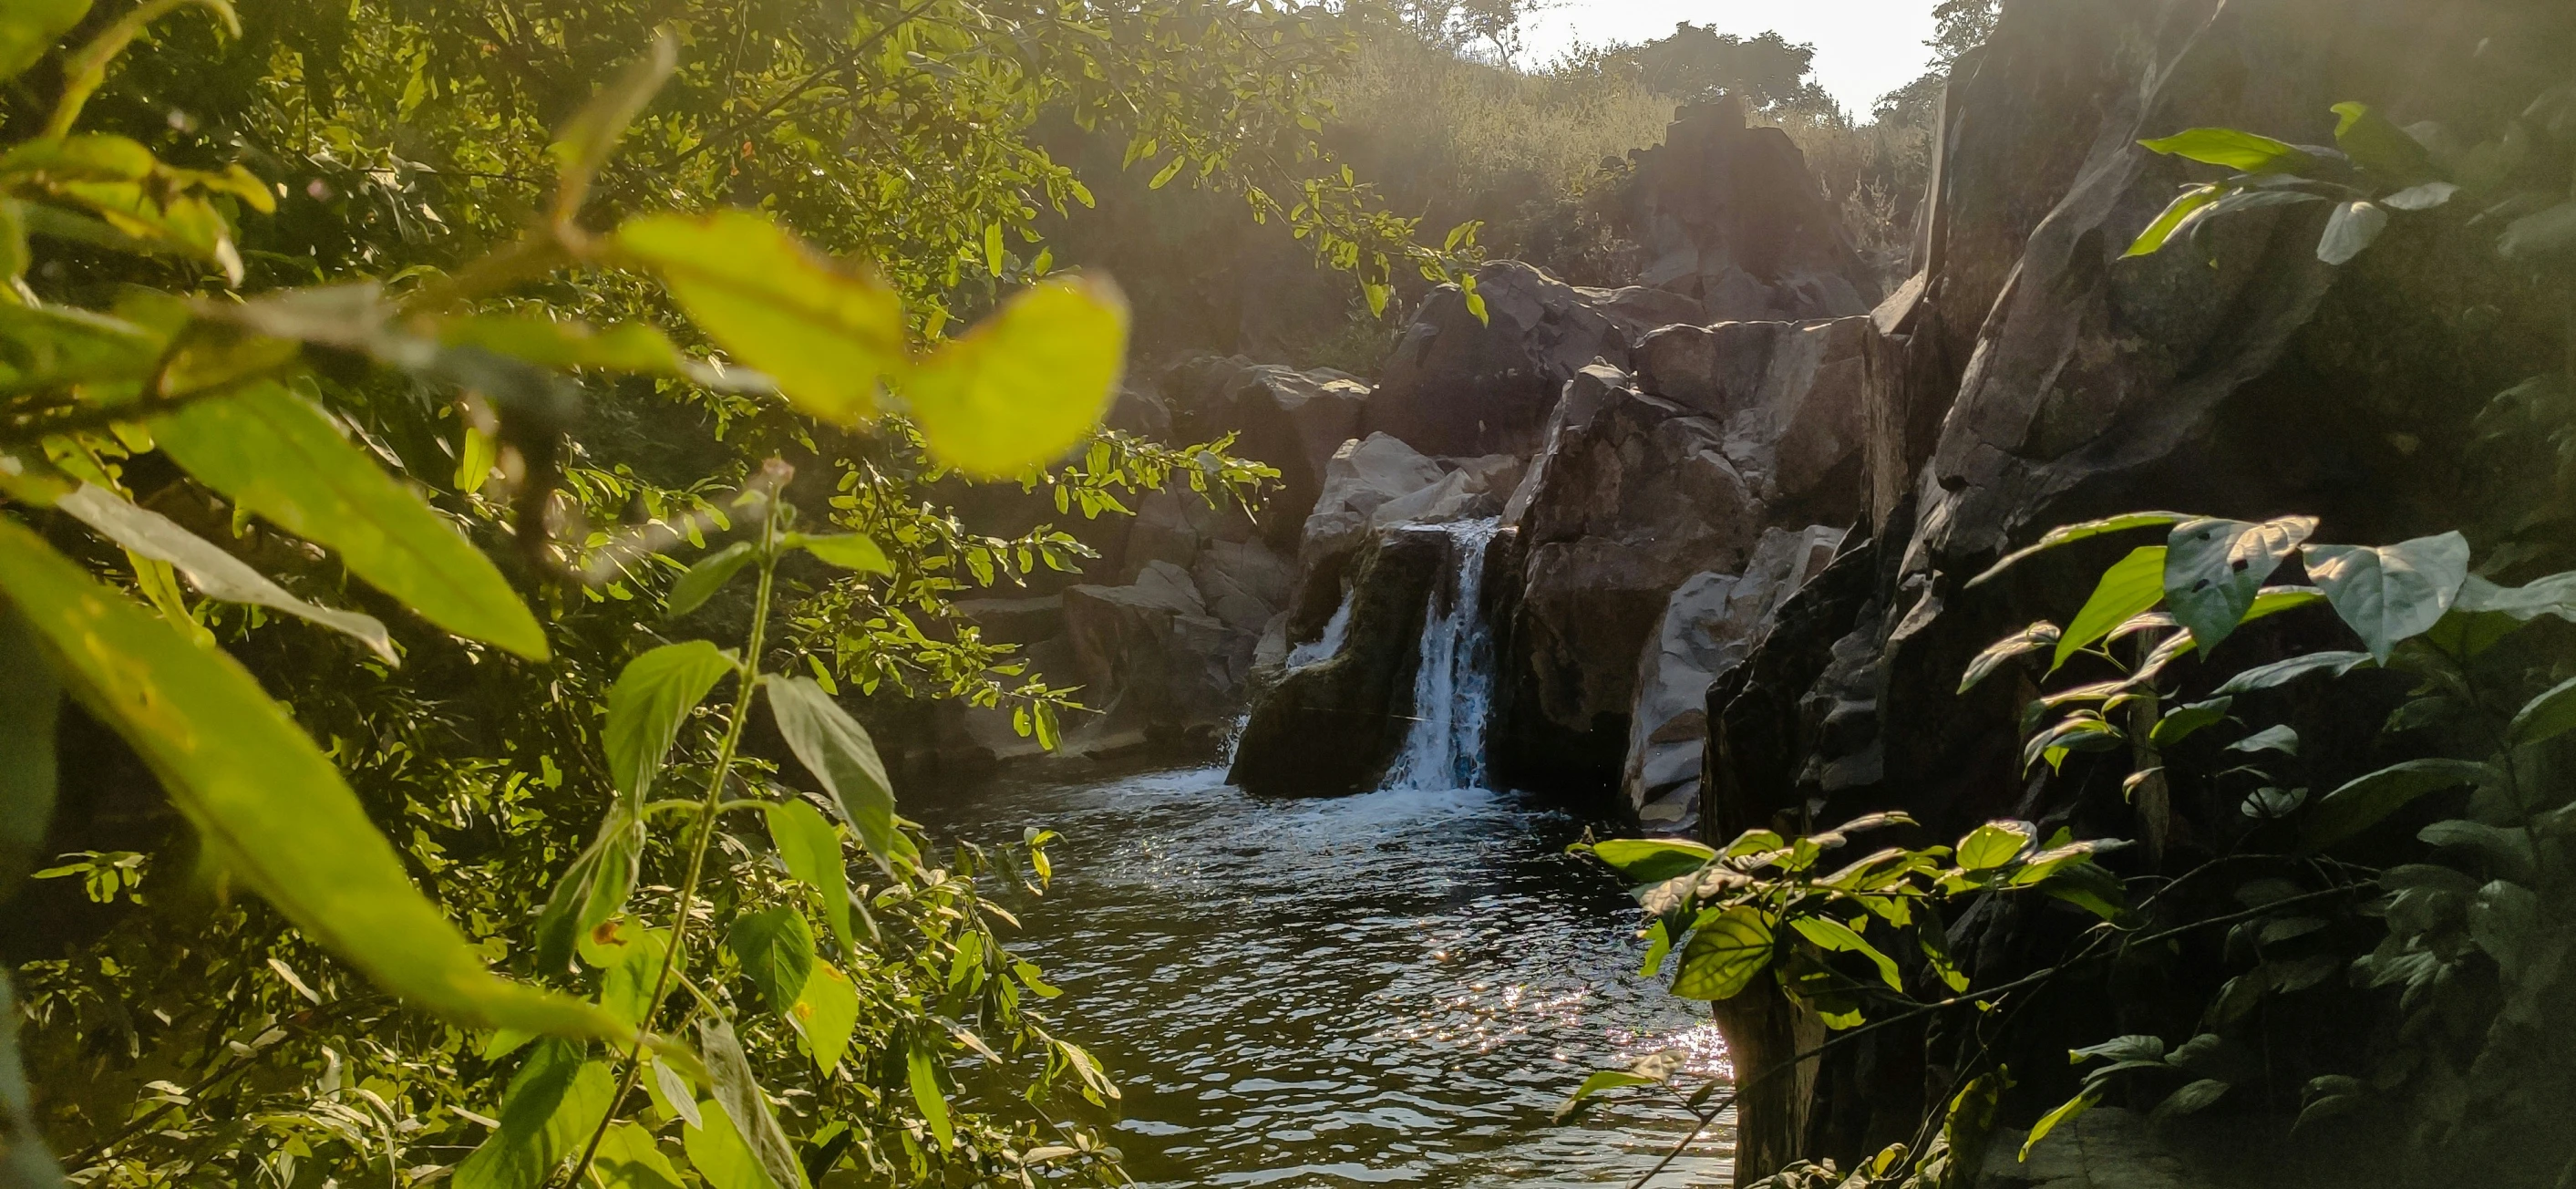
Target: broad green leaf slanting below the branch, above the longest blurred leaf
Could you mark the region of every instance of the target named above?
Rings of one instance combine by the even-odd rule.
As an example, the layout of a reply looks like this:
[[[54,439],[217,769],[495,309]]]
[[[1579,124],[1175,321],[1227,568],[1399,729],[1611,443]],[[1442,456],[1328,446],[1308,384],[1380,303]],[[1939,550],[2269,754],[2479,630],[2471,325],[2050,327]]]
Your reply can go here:
[[[350,446],[312,402],[273,382],[198,400],[152,423],[160,449],[209,487],[307,542],[422,619],[546,658],[546,629],[492,560]]]

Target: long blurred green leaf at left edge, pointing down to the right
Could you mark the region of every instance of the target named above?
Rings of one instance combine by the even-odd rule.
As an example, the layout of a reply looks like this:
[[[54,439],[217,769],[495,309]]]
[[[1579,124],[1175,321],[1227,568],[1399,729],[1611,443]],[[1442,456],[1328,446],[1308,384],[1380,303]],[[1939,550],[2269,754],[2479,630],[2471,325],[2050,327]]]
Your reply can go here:
[[[0,518],[0,596],[72,696],[144,758],[206,856],[304,936],[456,1024],[634,1039],[605,1011],[484,970],[412,887],[394,846],[312,740],[224,653],[209,653]]]

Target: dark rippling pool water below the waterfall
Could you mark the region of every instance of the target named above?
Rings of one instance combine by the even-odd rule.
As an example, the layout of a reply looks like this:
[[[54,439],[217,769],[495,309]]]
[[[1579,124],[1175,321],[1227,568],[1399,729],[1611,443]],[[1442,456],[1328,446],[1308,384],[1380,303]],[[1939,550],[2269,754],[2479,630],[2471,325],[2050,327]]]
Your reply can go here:
[[[1680,1104],[1566,1127],[1556,1104],[1662,1047],[1726,1070],[1705,1014],[1636,978],[1628,898],[1561,854],[1582,823],[1522,794],[1278,802],[1203,769],[912,812],[1064,833],[1020,947],[1121,1078],[1118,1145],[1151,1186],[1623,1186],[1690,1130]],[[1651,1184],[1726,1184],[1731,1145],[1728,1117]]]

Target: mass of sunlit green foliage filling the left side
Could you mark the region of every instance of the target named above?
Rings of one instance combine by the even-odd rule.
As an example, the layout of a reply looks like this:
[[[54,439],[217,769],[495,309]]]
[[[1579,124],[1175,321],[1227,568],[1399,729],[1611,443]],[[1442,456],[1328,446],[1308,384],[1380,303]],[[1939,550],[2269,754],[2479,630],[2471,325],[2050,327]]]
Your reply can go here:
[[[1298,139],[1347,36],[173,8],[0,21],[0,864],[116,908],[18,970],[15,1174],[52,1140],[88,1184],[1115,1179],[1056,1114],[1115,1086],[987,898],[1043,890],[1048,836],[933,849],[832,691],[1051,740],[1072,694],[951,598],[1087,547],[974,531],[953,477],[1090,518],[1275,475],[1092,428],[1126,307],[1030,235],[1087,193],[1041,111],[1373,286],[1445,268]],[[185,836],[44,861],[57,774],[98,779],[54,756],[67,696]]]

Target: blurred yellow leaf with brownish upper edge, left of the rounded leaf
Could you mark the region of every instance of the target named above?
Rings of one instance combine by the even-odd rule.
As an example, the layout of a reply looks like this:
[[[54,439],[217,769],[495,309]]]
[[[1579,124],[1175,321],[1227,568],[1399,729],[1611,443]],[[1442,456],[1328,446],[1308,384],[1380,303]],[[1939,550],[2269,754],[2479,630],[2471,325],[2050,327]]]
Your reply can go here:
[[[647,214],[618,227],[616,248],[806,415],[855,426],[876,415],[878,382],[904,369],[894,289],[814,255],[760,214]]]

